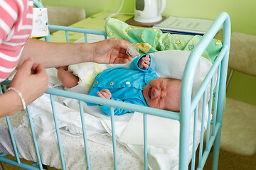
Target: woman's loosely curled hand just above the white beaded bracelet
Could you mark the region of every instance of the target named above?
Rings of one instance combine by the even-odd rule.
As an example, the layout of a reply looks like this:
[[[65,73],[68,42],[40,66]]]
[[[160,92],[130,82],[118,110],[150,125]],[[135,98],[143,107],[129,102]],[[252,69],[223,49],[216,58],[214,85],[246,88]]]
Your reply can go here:
[[[28,58],[19,67],[10,86],[21,92],[28,106],[48,89],[46,69],[42,64],[36,64],[32,58]]]

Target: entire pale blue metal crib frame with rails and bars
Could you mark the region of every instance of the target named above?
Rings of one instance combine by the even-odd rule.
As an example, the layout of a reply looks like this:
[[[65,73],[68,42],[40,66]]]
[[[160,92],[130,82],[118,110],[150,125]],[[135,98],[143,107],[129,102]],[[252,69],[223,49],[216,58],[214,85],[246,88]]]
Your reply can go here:
[[[37,7],[43,7],[41,3],[37,0],[34,0],[34,4]],[[212,40],[218,30],[223,25],[223,49],[220,51],[217,59],[213,63],[210,71],[208,72],[206,78],[203,80],[200,88],[196,92],[196,95],[192,96],[192,85],[193,85],[193,78],[196,72],[197,63],[203,54],[206,47],[208,47],[210,40]],[[85,42],[87,42],[87,34],[96,34],[102,35],[107,38],[107,33],[104,31],[99,30],[87,30],[82,28],[70,28],[64,26],[53,26],[49,25],[49,29],[54,30],[64,30],[67,42],[68,40],[68,32],[77,32],[77,33],[84,33],[85,35]],[[46,41],[50,41],[50,35],[46,37]],[[223,108],[225,103],[225,84],[226,84],[226,77],[227,77],[227,70],[228,70],[228,56],[229,56],[229,49],[230,49],[230,18],[228,13],[220,13],[218,18],[214,21],[213,25],[210,29],[203,35],[201,41],[196,45],[194,50],[191,52],[191,55],[188,58],[188,62],[186,63],[186,68],[183,73],[182,77],[182,84],[181,84],[181,112],[174,113],[171,111],[164,111],[159,110],[156,108],[148,108],[145,106],[136,106],[130,103],[122,103],[119,101],[110,101],[105,98],[98,98],[95,96],[88,96],[85,94],[75,94],[70,91],[61,91],[58,89],[48,89],[46,94],[50,94],[50,100],[52,104],[53,110],[53,118],[55,121],[55,129],[58,138],[58,145],[60,150],[60,158],[61,164],[63,169],[65,170],[65,157],[63,153],[62,142],[60,139],[60,132],[58,128],[58,121],[57,116],[55,113],[55,105],[54,105],[54,98],[53,96],[63,96],[67,98],[74,98],[79,101],[80,105],[80,116],[82,121],[82,130],[83,130],[83,137],[84,137],[84,144],[85,144],[85,157],[87,162],[87,169],[91,169],[90,166],[90,153],[87,148],[87,137],[86,137],[86,129],[85,129],[85,120],[83,117],[83,108],[82,102],[88,101],[90,103],[97,103],[101,105],[110,106],[110,119],[112,123],[112,145],[113,145],[113,154],[114,154],[114,169],[118,169],[117,166],[117,151],[116,151],[116,139],[115,139],[115,129],[114,129],[114,108],[123,108],[129,111],[138,111],[144,113],[144,169],[148,169],[148,157],[147,157],[147,122],[146,122],[146,115],[156,115],[161,116],[164,118],[170,118],[174,120],[178,120],[180,122],[180,145],[179,145],[179,159],[178,159],[178,169],[188,169],[188,146],[189,146],[189,132],[190,132],[190,121],[191,115],[195,113],[195,118],[198,115],[198,102],[200,101],[201,97],[203,96],[203,118],[205,116],[206,110],[206,89],[208,84],[211,84],[210,88],[210,102],[209,102],[209,111],[212,111],[212,101],[213,101],[213,79],[215,77],[215,72],[217,71],[217,84],[216,84],[216,91],[215,91],[215,103],[214,103],[214,111],[213,111],[213,119],[210,120],[210,114],[208,117],[208,124],[206,130],[206,148],[203,150],[203,126],[204,121],[201,123],[201,138],[200,138],[200,145],[199,145],[199,157],[198,157],[198,167],[197,169],[203,169],[204,164],[206,163],[206,159],[208,158],[208,154],[210,153],[210,149],[213,147],[213,166],[212,169],[218,169],[218,157],[219,157],[219,149],[220,149],[220,132],[222,126],[222,119],[223,119]],[[6,86],[9,86],[11,81],[6,80],[1,83],[4,86],[4,91],[6,91]],[[3,92],[0,91],[2,94]],[[33,128],[33,121],[31,118],[31,112],[29,106],[27,106],[26,111],[28,113],[28,119],[31,125],[31,133],[34,140],[34,145],[36,148],[36,155],[38,157],[38,162],[34,164],[24,164],[20,161],[20,157],[18,156],[18,149],[16,147],[14,133],[11,129],[11,124],[9,121],[9,116],[6,117],[6,123],[9,128],[9,133],[11,136],[11,141],[13,142],[14,152],[15,152],[15,160],[11,160],[6,158],[6,154],[0,154],[0,163],[4,162],[6,164],[12,164],[14,166],[21,167],[23,169],[43,169],[43,165],[41,162],[41,155],[38,149],[38,143],[36,141],[36,132]],[[209,112],[210,113],[210,112]],[[202,118],[202,119],[203,119]],[[204,119],[203,119],[204,120]],[[194,121],[194,127],[197,125],[197,121]],[[210,125],[212,125],[212,133],[210,134]],[[196,129],[196,128],[194,128]],[[194,139],[196,138],[196,132],[193,133]],[[196,140],[193,140],[193,152],[192,152],[192,160],[191,160],[191,169],[195,169],[196,164]],[[214,145],[213,145],[214,143]]]

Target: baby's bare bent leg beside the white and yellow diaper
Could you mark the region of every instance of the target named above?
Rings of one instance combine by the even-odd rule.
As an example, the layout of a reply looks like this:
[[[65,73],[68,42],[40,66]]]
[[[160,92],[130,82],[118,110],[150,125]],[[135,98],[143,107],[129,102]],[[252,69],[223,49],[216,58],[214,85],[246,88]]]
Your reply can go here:
[[[68,89],[78,85],[79,78],[72,72],[68,72],[68,66],[58,67],[58,79]]]

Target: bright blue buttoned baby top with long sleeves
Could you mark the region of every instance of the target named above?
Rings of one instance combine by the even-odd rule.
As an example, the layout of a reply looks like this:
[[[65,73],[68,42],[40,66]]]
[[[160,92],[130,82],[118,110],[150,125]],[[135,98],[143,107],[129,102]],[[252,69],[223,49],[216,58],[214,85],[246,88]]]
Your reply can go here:
[[[151,63],[149,64],[149,69],[140,69],[138,67],[139,60],[144,56],[142,55],[134,59],[130,64],[130,69],[124,67],[105,69],[95,78],[92,91],[90,91],[89,95],[98,96],[97,91],[108,89],[112,94],[112,100],[148,106],[142,91],[151,79],[158,79],[159,77],[156,75],[154,69],[151,69]],[[87,105],[94,106],[96,104],[87,102]],[[104,113],[110,115],[109,106],[99,105],[99,107]],[[114,108],[114,115],[123,115],[124,113],[134,112],[122,108]]]

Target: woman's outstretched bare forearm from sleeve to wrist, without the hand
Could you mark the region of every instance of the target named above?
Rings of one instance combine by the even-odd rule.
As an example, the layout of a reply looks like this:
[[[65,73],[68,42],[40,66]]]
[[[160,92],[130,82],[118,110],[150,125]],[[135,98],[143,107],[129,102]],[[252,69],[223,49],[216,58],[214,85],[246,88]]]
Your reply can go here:
[[[35,63],[41,63],[46,68],[92,62],[91,46],[85,43],[56,43],[29,39],[23,49],[18,67],[28,57],[33,57]]]

